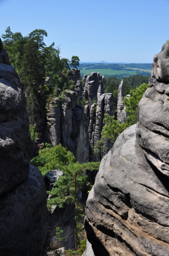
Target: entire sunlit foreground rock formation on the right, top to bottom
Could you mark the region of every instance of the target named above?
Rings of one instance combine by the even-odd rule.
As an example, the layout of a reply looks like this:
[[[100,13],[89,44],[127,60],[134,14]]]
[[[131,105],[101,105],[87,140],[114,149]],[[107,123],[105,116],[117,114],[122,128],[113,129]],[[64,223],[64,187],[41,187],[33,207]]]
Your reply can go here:
[[[128,127],[104,156],[86,205],[94,254],[169,255],[169,47],[154,57],[150,88]]]

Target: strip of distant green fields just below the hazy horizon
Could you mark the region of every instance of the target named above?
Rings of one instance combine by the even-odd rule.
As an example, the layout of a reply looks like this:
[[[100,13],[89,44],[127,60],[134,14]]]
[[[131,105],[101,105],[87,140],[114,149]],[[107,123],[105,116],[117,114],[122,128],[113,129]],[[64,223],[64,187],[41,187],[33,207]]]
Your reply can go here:
[[[102,76],[116,76],[116,75],[122,75],[122,76],[133,76],[137,75],[136,71],[124,71],[124,70],[113,70],[113,69],[82,69],[81,70],[81,76],[90,75],[91,72],[99,72]]]

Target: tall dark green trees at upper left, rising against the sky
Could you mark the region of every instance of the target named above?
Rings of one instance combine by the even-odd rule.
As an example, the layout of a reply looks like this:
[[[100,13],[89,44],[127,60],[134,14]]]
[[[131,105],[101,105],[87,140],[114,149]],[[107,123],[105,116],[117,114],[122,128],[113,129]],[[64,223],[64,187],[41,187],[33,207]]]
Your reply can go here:
[[[70,61],[60,57],[60,48],[54,48],[54,43],[48,47],[45,45],[45,30],[36,29],[24,37],[20,32],[13,33],[10,27],[5,32],[2,34],[4,49],[26,89],[29,121],[37,126],[39,117],[46,114],[48,98],[56,97],[57,88],[70,88]],[[77,61],[74,64],[78,64]],[[47,76],[50,77],[49,87],[44,85]]]

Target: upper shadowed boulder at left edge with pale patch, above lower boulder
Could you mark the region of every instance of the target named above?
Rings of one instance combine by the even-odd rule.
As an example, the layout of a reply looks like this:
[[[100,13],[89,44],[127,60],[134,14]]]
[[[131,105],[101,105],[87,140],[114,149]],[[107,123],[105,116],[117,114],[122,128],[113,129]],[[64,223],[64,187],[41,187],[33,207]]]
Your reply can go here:
[[[0,51],[0,56],[3,50]],[[7,53],[6,53],[7,54]],[[29,164],[26,99],[18,75],[11,65],[0,63],[0,194],[10,191],[27,178]]]

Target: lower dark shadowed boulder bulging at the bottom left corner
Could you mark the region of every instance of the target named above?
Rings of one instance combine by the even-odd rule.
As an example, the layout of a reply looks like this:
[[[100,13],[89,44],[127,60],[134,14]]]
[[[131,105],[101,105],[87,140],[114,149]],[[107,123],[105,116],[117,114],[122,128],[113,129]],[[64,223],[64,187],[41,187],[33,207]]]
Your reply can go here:
[[[1,255],[45,256],[48,209],[43,176],[30,165],[28,179],[1,197]]]

